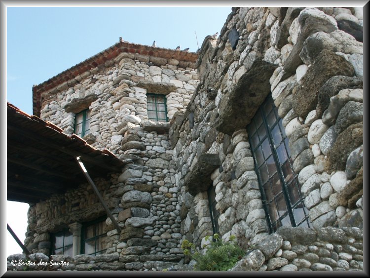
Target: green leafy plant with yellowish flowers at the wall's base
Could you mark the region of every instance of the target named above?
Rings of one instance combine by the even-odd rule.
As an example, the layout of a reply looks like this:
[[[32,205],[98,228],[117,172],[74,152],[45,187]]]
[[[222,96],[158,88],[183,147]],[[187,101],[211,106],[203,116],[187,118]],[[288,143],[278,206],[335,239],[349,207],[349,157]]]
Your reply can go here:
[[[209,240],[209,236],[205,239]],[[212,242],[203,254],[188,240],[184,240],[181,247],[184,255],[196,261],[194,270],[199,271],[227,271],[245,254],[245,250],[237,246],[235,237],[230,236],[229,241],[223,241],[218,234],[213,236]]]

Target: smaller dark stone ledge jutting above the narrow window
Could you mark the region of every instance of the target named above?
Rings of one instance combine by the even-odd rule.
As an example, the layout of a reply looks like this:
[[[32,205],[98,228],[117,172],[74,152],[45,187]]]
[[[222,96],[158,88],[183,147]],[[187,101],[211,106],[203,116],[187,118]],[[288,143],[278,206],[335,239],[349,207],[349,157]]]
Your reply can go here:
[[[211,173],[220,165],[219,155],[201,155],[192,170],[185,176],[185,185],[188,187],[189,193],[195,196],[197,193],[207,190],[212,183]]]

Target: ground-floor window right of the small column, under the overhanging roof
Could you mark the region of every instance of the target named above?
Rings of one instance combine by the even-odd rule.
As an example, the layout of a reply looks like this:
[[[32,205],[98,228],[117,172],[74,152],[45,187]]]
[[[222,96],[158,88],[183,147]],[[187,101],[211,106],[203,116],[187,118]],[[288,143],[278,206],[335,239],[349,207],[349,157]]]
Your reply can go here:
[[[105,219],[86,223],[82,226],[81,254],[100,255],[104,254],[106,248],[107,224]]]

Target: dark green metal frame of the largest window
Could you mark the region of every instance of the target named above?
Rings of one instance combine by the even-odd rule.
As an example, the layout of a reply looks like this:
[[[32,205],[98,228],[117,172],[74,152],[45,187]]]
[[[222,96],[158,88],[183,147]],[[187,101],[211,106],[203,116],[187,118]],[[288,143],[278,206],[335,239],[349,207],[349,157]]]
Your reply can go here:
[[[272,109],[268,113],[268,115],[270,113],[274,113],[274,115],[275,115],[275,121],[274,121],[274,123],[271,126],[269,126],[269,124],[267,122],[268,115],[265,114],[265,111],[263,109],[264,106],[268,104],[268,102],[270,102],[270,104],[272,105]],[[302,196],[302,194],[300,192],[300,188],[299,188],[299,184],[298,184],[298,180],[297,180],[297,174],[294,172],[293,167],[292,167],[293,166],[293,161],[291,161],[290,148],[289,148],[289,145],[288,145],[289,138],[285,134],[284,126],[281,124],[282,119],[279,117],[277,110],[278,109],[276,108],[276,106],[274,104],[274,101],[272,99],[272,96],[271,96],[271,94],[269,94],[266,97],[266,99],[264,100],[264,102],[260,105],[260,107],[259,107],[258,111],[256,112],[254,118],[251,120],[251,122],[247,126],[249,140],[250,140],[250,144],[251,144],[251,151],[252,151],[252,155],[253,155],[254,163],[255,163],[255,170],[256,170],[256,173],[257,173],[257,176],[258,176],[259,188],[260,188],[261,195],[262,195],[262,203],[263,203],[263,207],[264,207],[264,210],[265,210],[266,219],[267,219],[267,223],[269,225],[270,233],[276,231],[276,229],[278,227],[283,226],[282,220],[286,216],[289,216],[289,219],[290,219],[290,222],[291,222],[291,226],[292,227],[303,225],[303,223],[305,223],[305,225],[307,225],[308,227],[310,227],[312,225],[311,222],[309,221],[309,218],[308,218],[308,210],[306,209],[306,207],[304,205],[304,197]],[[265,128],[265,132],[266,132],[266,134],[264,135],[263,138],[259,138],[258,130],[259,130],[259,127],[260,126],[258,127],[255,124],[255,120],[256,120],[256,117],[258,116],[258,114],[259,114],[259,116],[262,119],[262,123],[261,123],[260,126],[263,125],[264,128]],[[254,124],[254,128],[255,128],[255,133],[254,134],[251,134],[251,132],[250,132],[250,130],[251,130],[251,124]],[[274,145],[274,139],[273,139],[273,136],[272,136],[272,130],[274,129],[274,127],[276,125],[279,125],[279,132],[280,132],[280,135],[281,135],[282,140],[281,140],[280,144],[277,144],[277,146],[275,147],[275,145]],[[252,141],[252,137],[253,136],[258,136],[257,137],[258,138],[258,144],[256,146],[254,146],[253,141]],[[264,157],[263,149],[262,149],[262,146],[261,146],[262,145],[262,142],[266,138],[268,140],[268,143],[269,143],[269,146],[270,146],[270,149],[271,149],[271,154],[267,158]],[[281,144],[284,144],[284,148],[286,150],[288,159],[286,159],[283,163],[280,164],[280,161],[279,161],[279,158],[278,158],[278,154],[277,154],[277,148],[279,146],[281,146]],[[258,165],[258,161],[257,161],[257,158],[256,158],[256,153],[255,153],[255,151],[259,147],[261,147],[262,156],[263,156],[263,159],[264,159],[263,162],[262,162],[262,164],[265,163],[270,157],[272,157],[273,160],[274,160],[274,162],[275,162],[275,165],[276,165],[276,173],[274,173],[273,175],[271,175],[271,177],[270,177],[270,174],[268,173],[268,175],[269,175],[268,176],[268,179],[267,179],[267,181],[264,184],[262,184],[262,179],[261,179],[260,172],[259,172],[259,165]],[[282,170],[282,166],[285,165],[285,163],[290,163],[290,167],[291,167],[292,173],[293,173],[293,179],[290,182],[288,182],[288,183],[285,182],[284,173],[283,173],[283,170]],[[268,169],[267,169],[267,172],[268,172]],[[282,214],[282,215],[278,215],[277,219],[272,222],[271,219],[270,219],[269,212],[268,212],[268,204],[271,203],[271,201],[272,201],[272,202],[274,202],[274,205],[276,206],[276,208],[278,208],[278,205],[277,205],[277,202],[276,202],[276,197],[278,197],[281,193],[278,193],[278,194],[275,195],[275,193],[273,191],[273,187],[272,187],[271,188],[271,192],[273,194],[273,197],[272,197],[272,200],[269,201],[266,198],[266,194],[265,194],[265,191],[263,189],[263,186],[265,184],[268,184],[268,183],[270,183],[270,185],[271,185],[272,184],[271,180],[273,179],[273,177],[275,176],[275,174],[278,175],[279,180],[281,182],[282,194],[284,196],[284,200],[285,200],[285,203],[286,203],[287,211],[284,214]],[[296,187],[297,192],[298,192],[298,195],[299,195],[299,198],[293,204],[291,203],[291,196],[290,196],[289,190],[288,190],[288,186],[290,186],[292,183],[295,183],[295,187]],[[294,209],[298,208],[299,206],[302,206],[304,217],[303,217],[303,219],[301,219],[297,223],[296,222],[296,218],[295,218]]]

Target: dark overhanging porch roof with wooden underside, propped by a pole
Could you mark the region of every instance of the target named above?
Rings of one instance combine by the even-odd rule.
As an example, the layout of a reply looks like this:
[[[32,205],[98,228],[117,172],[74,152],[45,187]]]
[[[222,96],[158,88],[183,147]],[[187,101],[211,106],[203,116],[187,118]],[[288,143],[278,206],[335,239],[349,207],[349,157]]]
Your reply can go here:
[[[7,199],[33,203],[86,183],[75,157],[91,177],[108,178],[124,162],[73,134],[7,103]]]

